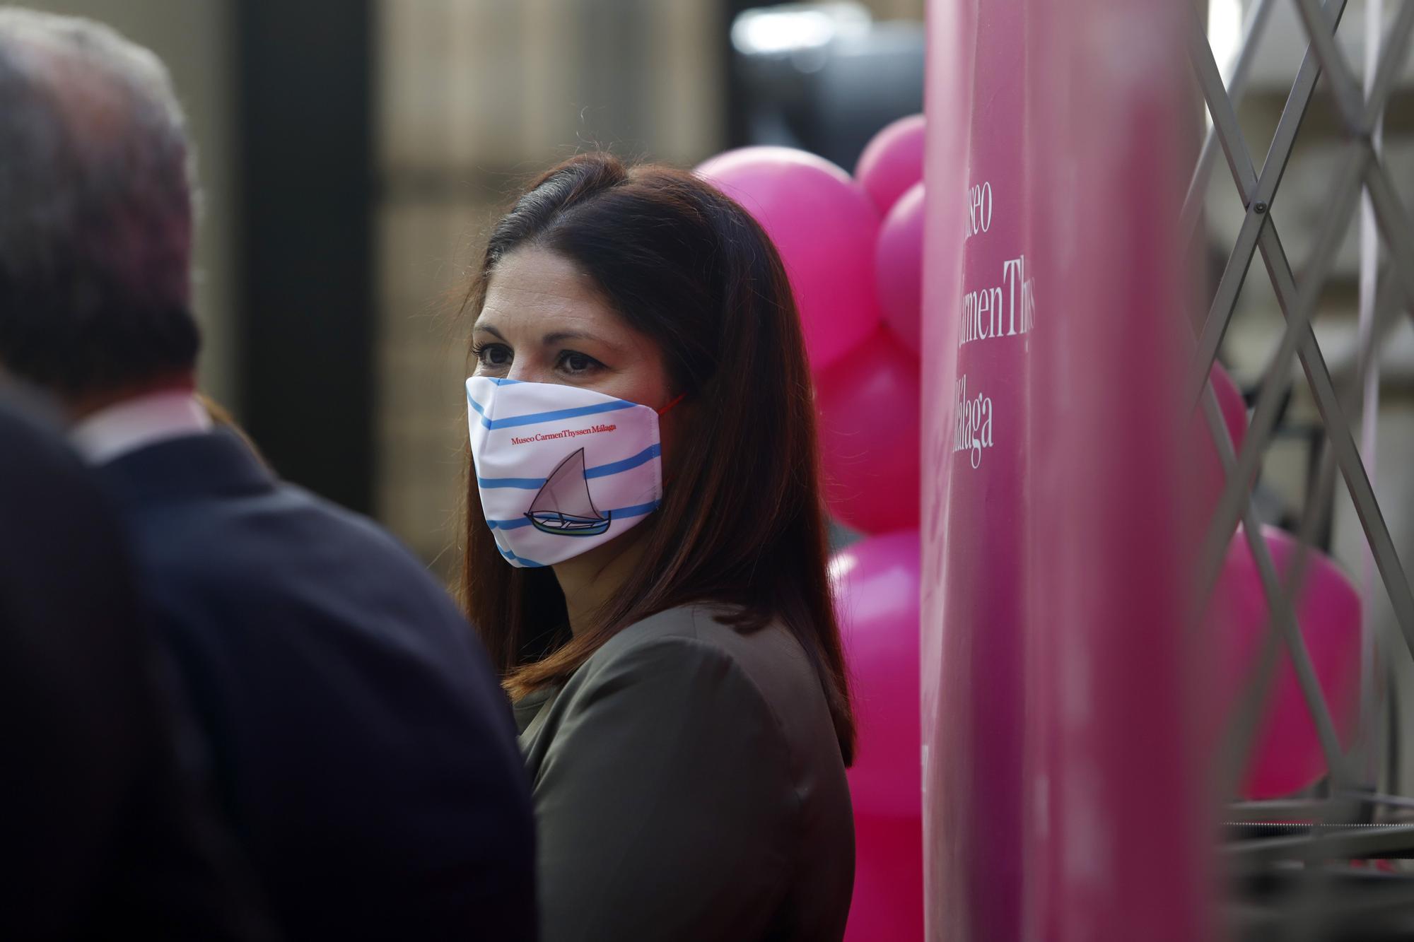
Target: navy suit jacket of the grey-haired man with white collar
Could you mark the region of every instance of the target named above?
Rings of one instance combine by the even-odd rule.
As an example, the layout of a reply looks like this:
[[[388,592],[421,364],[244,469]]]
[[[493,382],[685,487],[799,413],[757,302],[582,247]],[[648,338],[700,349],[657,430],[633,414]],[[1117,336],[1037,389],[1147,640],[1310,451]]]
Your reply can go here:
[[[297,939],[533,939],[510,710],[423,566],[232,434],[103,465],[219,793]]]

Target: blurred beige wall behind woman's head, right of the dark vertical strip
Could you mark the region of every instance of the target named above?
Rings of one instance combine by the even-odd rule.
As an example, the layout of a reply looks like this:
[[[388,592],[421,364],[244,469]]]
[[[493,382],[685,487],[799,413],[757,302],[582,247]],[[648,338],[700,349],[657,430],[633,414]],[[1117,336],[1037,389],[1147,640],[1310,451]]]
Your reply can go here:
[[[450,543],[465,438],[457,317],[498,209],[612,147],[693,164],[727,143],[725,11],[703,0],[376,4],[378,512]],[[452,554],[454,556],[454,554]]]

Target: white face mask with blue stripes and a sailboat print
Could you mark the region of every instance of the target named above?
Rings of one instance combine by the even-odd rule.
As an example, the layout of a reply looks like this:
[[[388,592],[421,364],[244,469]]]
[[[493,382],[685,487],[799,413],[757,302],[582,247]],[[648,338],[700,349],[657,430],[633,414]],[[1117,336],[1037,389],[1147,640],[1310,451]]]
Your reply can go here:
[[[553,566],[658,509],[663,464],[652,407],[488,376],[467,380],[467,403],[481,509],[512,566]]]

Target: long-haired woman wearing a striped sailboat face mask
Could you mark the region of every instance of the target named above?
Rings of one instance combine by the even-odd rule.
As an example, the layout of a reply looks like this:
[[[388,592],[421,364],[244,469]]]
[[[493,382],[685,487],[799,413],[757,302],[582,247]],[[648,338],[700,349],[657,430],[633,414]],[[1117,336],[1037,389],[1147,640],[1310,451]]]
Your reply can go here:
[[[467,307],[464,591],[543,938],[839,939],[854,720],[773,246],[689,173],[585,154],[496,225]]]

